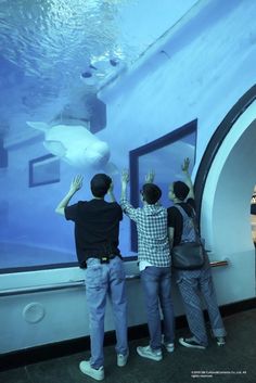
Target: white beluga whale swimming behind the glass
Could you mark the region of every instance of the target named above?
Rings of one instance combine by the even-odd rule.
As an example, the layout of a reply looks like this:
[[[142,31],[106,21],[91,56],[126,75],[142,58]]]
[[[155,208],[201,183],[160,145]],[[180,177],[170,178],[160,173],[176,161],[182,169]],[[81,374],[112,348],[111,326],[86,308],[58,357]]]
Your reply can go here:
[[[51,154],[71,166],[86,170],[116,173],[110,163],[111,151],[105,141],[101,141],[82,125],[49,125],[42,122],[27,122],[27,125],[44,133],[43,145]]]

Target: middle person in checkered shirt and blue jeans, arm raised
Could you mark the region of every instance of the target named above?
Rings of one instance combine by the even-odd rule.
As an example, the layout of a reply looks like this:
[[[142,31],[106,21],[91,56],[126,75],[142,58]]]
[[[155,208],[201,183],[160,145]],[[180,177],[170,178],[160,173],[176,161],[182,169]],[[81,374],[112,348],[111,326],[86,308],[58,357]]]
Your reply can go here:
[[[162,343],[167,352],[174,352],[175,318],[170,295],[170,252],[167,231],[167,209],[159,205],[161,189],[145,183],[141,191],[143,207],[135,208],[127,201],[128,174],[121,176],[120,205],[126,215],[137,225],[138,261],[150,331],[150,345],[137,347],[143,358],[159,361],[163,358]],[[164,320],[162,339],[159,305]]]

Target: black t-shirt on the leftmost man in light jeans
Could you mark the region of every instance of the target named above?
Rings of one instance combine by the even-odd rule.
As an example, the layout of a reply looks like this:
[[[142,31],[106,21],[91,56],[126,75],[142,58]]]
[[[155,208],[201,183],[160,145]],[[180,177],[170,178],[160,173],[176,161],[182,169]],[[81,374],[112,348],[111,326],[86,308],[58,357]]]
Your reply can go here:
[[[120,255],[118,237],[123,212],[116,202],[79,201],[65,208],[65,217],[75,222],[76,253],[81,268],[89,257]]]

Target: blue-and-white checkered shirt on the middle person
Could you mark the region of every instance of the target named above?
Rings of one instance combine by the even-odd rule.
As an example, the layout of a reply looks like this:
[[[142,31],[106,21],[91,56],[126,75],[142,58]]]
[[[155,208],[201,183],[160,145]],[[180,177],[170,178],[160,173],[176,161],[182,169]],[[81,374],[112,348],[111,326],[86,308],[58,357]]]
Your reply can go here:
[[[125,199],[120,200],[120,206],[137,225],[138,260],[146,260],[156,267],[169,267],[167,209],[158,204],[135,208]]]

